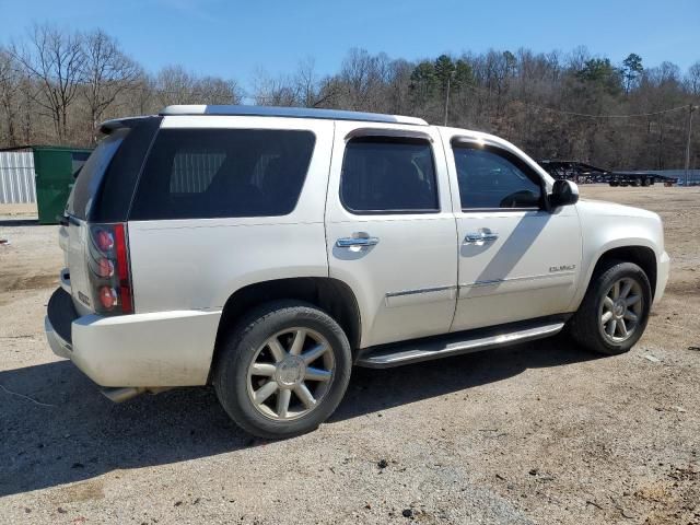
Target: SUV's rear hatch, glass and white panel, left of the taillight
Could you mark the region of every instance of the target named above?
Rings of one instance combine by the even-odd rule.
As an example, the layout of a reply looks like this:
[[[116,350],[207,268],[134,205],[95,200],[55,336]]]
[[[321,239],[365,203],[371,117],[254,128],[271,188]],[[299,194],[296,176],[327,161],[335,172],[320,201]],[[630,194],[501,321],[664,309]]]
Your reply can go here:
[[[66,217],[61,221],[59,244],[69,272],[70,293],[80,315],[95,312],[88,266],[88,219],[97,201],[107,167],[128,132],[128,128],[116,130],[95,148],[78,174],[66,206]]]

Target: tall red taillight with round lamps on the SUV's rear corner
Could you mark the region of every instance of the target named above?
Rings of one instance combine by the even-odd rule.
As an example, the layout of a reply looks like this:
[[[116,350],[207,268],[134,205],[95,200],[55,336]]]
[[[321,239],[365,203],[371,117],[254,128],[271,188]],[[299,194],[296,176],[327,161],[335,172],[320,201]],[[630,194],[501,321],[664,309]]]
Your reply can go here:
[[[133,313],[126,225],[91,225],[88,257],[95,311],[112,315]]]

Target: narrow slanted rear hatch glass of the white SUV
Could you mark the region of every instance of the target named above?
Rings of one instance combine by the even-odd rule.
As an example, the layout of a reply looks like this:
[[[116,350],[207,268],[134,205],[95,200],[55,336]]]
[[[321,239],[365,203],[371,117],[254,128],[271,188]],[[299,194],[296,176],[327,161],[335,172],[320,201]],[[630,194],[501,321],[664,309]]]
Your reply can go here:
[[[66,205],[69,215],[83,220],[88,218],[107,166],[128,132],[125,128],[108,135],[83,164]]]

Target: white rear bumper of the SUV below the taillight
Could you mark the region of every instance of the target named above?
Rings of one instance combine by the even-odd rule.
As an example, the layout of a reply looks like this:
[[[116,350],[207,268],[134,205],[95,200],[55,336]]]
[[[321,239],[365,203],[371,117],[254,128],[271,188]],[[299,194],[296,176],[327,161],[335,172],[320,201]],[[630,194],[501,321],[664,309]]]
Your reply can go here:
[[[207,383],[221,312],[79,316],[58,289],[49,300],[46,337],[101,386],[195,386]]]

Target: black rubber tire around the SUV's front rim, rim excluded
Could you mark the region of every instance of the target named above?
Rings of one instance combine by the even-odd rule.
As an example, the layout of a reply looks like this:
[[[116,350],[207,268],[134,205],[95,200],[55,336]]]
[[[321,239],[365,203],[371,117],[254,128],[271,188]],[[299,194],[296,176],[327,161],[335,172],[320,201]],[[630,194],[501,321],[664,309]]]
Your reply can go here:
[[[614,342],[602,332],[599,313],[608,290],[620,279],[632,279],[639,284],[642,305],[634,331],[628,339]],[[579,310],[568,323],[569,334],[579,345],[593,352],[607,355],[625,353],[642,337],[649,322],[651,302],[652,289],[644,270],[633,262],[609,260],[592,277]]]

